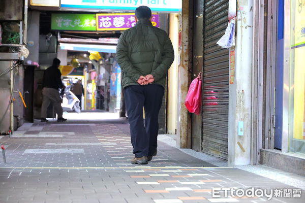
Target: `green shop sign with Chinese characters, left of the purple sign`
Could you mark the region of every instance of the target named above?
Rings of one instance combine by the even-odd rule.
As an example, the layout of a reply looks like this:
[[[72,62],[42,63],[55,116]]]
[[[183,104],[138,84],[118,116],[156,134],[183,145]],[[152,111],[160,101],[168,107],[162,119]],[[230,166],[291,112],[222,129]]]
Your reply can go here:
[[[95,14],[52,13],[52,30],[96,31]]]

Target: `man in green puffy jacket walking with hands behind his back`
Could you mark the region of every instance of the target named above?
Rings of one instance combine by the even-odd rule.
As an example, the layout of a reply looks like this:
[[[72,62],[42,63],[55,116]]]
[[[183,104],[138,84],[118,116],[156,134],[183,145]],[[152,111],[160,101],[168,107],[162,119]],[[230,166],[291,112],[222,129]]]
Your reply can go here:
[[[157,155],[158,115],[167,72],[174,60],[174,50],[167,33],[151,24],[148,7],[138,7],[135,19],[136,26],[125,30],[119,38],[116,60],[121,67],[121,82],[135,154],[131,163],[147,164]]]

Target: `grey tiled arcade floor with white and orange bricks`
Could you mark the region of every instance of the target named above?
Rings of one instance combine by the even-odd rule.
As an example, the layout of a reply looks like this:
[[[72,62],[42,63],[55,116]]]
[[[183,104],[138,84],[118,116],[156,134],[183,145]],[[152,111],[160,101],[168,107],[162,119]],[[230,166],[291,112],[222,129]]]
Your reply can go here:
[[[237,168],[217,167],[162,142],[153,161],[133,165],[129,126],[119,119],[37,122],[0,143],[7,158],[6,164],[0,163],[1,203],[305,202],[304,191],[297,197],[297,188]],[[279,189],[282,196],[292,197],[274,193],[268,201],[221,192],[220,198],[213,198],[211,192],[252,187]]]

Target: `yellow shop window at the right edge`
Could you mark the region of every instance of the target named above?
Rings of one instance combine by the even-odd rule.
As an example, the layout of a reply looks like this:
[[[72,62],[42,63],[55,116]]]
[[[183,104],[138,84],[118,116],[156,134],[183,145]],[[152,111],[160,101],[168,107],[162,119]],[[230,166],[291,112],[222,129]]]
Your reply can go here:
[[[288,150],[305,154],[305,0],[291,1],[290,23]]]

